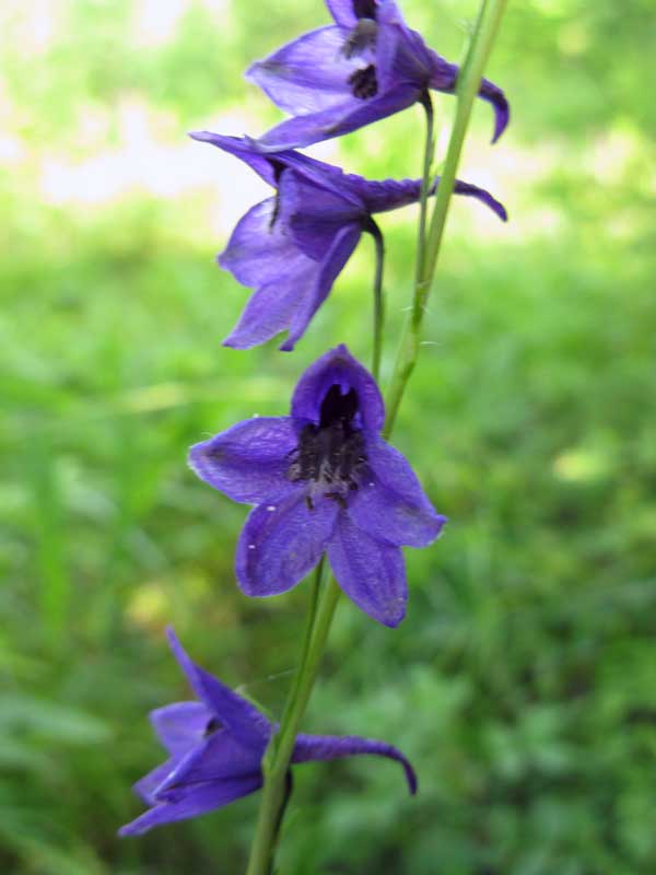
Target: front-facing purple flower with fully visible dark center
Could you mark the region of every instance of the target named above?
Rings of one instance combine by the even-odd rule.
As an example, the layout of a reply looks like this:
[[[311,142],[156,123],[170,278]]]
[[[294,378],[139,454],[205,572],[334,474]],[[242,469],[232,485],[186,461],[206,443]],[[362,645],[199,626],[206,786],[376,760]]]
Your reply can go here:
[[[347,595],[398,626],[408,597],[400,547],[426,547],[445,517],[380,438],[383,398],[344,346],[305,371],[290,412],[239,422],[189,454],[202,480],[256,505],[237,544],[239,586],[249,596],[284,593],[326,552]]]

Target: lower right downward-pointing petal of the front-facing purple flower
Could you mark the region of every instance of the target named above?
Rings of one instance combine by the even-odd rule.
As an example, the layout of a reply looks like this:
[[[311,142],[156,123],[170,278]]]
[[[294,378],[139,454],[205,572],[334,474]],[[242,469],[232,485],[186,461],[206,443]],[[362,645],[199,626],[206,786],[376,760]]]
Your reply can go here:
[[[344,593],[374,620],[395,627],[406,616],[408,584],[399,547],[375,540],[340,514],[328,559]]]

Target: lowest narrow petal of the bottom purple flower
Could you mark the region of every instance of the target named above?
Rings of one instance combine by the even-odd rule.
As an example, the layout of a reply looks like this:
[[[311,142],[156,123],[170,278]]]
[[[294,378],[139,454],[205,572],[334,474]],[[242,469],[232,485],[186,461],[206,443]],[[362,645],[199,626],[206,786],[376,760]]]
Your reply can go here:
[[[140,836],[153,827],[171,824],[175,820],[186,820],[198,817],[208,812],[221,808],[235,800],[259,790],[262,785],[261,777],[249,775],[235,778],[211,784],[199,784],[181,795],[176,802],[165,802],[156,805],[126,824],[118,831],[119,836]]]

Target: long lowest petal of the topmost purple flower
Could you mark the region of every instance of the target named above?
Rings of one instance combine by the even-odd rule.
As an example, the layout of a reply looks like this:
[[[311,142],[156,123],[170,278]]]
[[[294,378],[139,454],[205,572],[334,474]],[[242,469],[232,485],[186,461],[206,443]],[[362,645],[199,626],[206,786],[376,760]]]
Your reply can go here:
[[[417,85],[403,82],[379,97],[367,101],[349,95],[328,109],[281,121],[259,137],[257,142],[267,152],[274,152],[341,137],[411,106],[419,94]]]

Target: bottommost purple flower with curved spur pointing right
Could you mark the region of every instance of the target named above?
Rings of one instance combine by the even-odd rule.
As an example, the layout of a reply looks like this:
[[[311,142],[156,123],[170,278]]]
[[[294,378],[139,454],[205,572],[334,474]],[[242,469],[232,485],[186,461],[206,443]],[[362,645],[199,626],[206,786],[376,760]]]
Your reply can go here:
[[[276,724],[249,701],[223,685],[183,650],[172,629],[168,641],[200,701],[175,702],[151,711],[155,733],[168,759],[134,784],[149,810],[119,830],[138,836],[153,827],[221,808],[259,790],[261,759]],[[396,747],[356,735],[298,735],[292,762],[370,754],[401,763],[411,793],[412,766]]]

